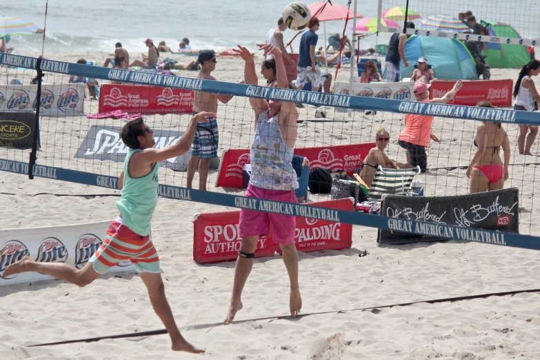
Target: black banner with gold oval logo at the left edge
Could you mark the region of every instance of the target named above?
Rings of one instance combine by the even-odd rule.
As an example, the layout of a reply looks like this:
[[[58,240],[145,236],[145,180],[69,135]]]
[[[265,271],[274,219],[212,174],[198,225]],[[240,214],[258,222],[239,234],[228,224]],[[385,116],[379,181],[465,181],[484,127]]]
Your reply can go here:
[[[31,149],[35,121],[35,112],[0,112],[0,146]]]

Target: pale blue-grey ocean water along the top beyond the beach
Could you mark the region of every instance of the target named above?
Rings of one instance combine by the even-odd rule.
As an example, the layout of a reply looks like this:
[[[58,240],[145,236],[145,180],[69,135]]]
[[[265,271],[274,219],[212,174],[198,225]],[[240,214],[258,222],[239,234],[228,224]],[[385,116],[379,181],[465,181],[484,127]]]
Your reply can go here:
[[[358,12],[364,17],[377,16],[376,0],[358,0]],[[53,52],[114,51],[120,41],[130,52],[146,52],[143,40],[166,41],[176,49],[183,37],[192,48],[223,50],[237,44],[254,50],[264,42],[266,32],[277,23],[290,0],[50,0],[46,24],[45,55]],[[314,1],[306,1],[310,3]],[[334,0],[346,6],[346,0]],[[405,0],[383,0],[383,9],[404,6]],[[540,5],[525,0],[410,0],[410,8],[421,15],[454,14],[472,10],[477,18],[510,23],[522,37],[538,38]],[[351,6],[352,7],[352,6]],[[4,0],[0,13],[32,21],[43,28],[44,0]],[[345,21],[326,22],[327,37],[341,33]],[[352,19],[346,34],[352,34]],[[286,30],[288,42],[295,32]],[[362,39],[361,48],[388,43],[389,34]],[[41,52],[41,34],[17,36],[11,46],[15,52]],[[323,24],[319,30],[319,46],[323,44]],[[292,43],[298,50],[299,37]]]

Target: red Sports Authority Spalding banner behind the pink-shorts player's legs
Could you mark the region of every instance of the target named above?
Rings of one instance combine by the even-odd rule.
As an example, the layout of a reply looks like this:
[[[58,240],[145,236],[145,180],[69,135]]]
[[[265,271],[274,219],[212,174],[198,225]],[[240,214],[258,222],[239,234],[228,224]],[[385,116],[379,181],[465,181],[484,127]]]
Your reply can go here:
[[[353,210],[350,199],[310,203],[311,206],[339,210]],[[193,221],[193,259],[197,263],[217,263],[236,260],[241,237],[238,232],[240,210],[199,214]],[[272,228],[266,237],[260,237],[255,257],[272,257],[281,252],[272,241]],[[352,246],[352,225],[326,220],[297,217],[295,241],[302,252],[343,250]]]

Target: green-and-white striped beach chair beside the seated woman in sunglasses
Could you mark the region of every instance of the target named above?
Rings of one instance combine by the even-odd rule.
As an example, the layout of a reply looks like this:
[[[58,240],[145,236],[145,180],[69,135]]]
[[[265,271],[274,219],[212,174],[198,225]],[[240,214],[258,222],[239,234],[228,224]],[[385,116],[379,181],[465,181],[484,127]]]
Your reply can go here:
[[[383,194],[406,195],[414,175],[419,173],[419,166],[411,169],[383,169],[379,166],[371,183],[368,197],[381,199]]]

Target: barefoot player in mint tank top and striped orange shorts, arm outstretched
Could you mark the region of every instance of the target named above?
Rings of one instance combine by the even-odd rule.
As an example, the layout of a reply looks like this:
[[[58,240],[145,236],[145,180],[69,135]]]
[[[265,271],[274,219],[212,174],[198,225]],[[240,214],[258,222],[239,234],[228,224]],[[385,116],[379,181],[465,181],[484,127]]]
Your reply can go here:
[[[188,343],[174,322],[161,279],[159,257],[150,237],[150,221],[157,205],[159,161],[188,152],[197,124],[215,116],[213,112],[199,112],[192,117],[178,143],[161,149],[153,148],[156,142],[153,131],[141,117],[128,121],[120,133],[123,143],[130,148],[119,179],[122,195],[117,208],[120,215],[112,221],[105,240],[86,266],[79,270],[66,263],[42,263],[25,257],[9,266],[3,276],[34,271],[83,287],[112,266],[129,260],[148,288],[150,303],[167,329],[172,350],[204,352]]]

